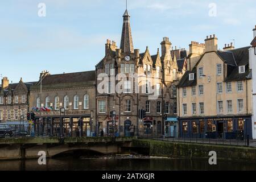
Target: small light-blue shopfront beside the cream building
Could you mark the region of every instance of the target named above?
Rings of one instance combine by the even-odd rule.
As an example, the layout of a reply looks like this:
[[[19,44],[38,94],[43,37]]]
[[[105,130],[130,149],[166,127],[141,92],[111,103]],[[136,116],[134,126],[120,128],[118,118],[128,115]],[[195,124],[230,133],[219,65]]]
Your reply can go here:
[[[165,121],[165,137],[177,137],[177,117],[168,117]]]

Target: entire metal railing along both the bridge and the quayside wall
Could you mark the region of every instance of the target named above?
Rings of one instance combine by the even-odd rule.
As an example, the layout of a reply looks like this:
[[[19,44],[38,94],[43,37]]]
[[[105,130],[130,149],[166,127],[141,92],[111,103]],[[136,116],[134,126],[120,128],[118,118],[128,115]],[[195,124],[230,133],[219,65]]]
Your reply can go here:
[[[172,132],[162,135],[160,130],[141,128],[135,126],[73,126],[63,127],[60,134],[58,125],[0,125],[0,137],[134,137],[147,139],[166,140],[170,142],[193,142],[208,144],[230,144],[249,146],[249,135],[244,131],[236,132],[204,132],[204,133],[179,133]]]

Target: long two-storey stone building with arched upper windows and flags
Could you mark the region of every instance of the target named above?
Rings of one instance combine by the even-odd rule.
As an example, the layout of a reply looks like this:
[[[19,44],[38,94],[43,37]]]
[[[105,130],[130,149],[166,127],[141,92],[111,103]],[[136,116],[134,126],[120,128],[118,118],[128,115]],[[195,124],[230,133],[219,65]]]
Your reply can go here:
[[[36,123],[49,127],[48,132],[55,134],[63,121],[66,133],[73,131],[72,135],[76,135],[82,120],[83,135],[92,135],[96,126],[95,80],[95,71],[40,73],[39,81],[30,88],[30,110],[35,113]],[[65,111],[62,113],[61,109]]]

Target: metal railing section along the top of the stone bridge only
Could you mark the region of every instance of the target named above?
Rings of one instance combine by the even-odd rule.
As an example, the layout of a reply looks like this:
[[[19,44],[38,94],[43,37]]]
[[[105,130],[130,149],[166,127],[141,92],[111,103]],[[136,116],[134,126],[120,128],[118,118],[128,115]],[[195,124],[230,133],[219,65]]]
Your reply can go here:
[[[0,137],[134,137],[138,135],[135,126],[74,126],[63,127],[60,133],[58,125],[4,125],[0,126]]]

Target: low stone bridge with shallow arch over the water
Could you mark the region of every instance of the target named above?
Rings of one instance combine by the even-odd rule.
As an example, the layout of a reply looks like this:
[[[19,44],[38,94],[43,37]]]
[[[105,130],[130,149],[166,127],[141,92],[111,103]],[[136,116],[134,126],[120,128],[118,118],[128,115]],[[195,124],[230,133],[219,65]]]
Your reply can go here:
[[[0,138],[0,160],[38,158],[39,151],[45,151],[47,157],[77,150],[119,154],[134,139],[137,137]]]

